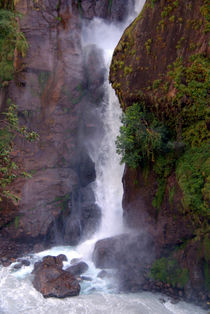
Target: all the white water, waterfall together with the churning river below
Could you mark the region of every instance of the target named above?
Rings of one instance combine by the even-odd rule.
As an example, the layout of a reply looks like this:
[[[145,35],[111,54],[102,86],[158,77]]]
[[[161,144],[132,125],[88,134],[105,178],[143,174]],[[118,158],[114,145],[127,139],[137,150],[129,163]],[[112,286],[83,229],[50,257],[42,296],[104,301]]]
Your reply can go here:
[[[136,1],[137,12],[144,0]],[[130,21],[133,17],[130,17]],[[107,67],[120,36],[129,24],[105,24],[94,19],[85,33],[84,45],[96,44],[104,52]],[[204,314],[206,311],[185,302],[172,304],[166,296],[152,293],[119,294],[112,279],[97,277],[100,269],[96,269],[91,261],[91,254],[98,239],[112,236],[123,231],[122,224],[122,173],[123,166],[115,152],[115,138],[120,127],[120,106],[109,86],[104,98],[105,110],[101,110],[104,121],[104,137],[99,146],[91,145],[91,157],[96,164],[97,179],[95,184],[96,202],[102,209],[102,223],[99,231],[77,247],[54,247],[50,250],[25,256],[31,262],[14,270],[14,264],[0,268],[0,314]],[[31,283],[33,264],[46,255],[65,254],[68,258],[64,268],[70,265],[73,258],[85,260],[89,269],[84,274],[92,281],[81,283],[81,294],[78,297],[44,299]],[[163,302],[163,299],[165,302]]]

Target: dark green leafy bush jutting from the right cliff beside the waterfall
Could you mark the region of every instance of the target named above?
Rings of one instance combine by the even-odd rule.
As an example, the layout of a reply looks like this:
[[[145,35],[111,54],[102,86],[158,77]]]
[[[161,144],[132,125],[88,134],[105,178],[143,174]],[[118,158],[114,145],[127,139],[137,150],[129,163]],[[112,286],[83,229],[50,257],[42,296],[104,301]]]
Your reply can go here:
[[[133,104],[122,115],[120,135],[116,140],[121,162],[136,168],[141,162],[154,161],[166,148],[166,129],[143,106]]]

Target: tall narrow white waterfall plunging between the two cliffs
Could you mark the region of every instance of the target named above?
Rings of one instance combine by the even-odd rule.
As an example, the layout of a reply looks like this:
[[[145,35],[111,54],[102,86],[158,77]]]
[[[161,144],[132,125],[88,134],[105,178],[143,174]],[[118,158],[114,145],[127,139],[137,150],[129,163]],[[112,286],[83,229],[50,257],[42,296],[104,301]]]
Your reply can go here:
[[[103,51],[107,77],[104,83],[105,96],[98,114],[103,132],[99,140],[94,138],[90,145],[91,149],[89,149],[96,168],[93,190],[96,203],[102,211],[102,221],[95,239],[120,233],[123,228],[121,178],[124,167],[120,165],[120,157],[116,154],[115,148],[115,139],[120,128],[121,109],[118,99],[108,83],[113,49],[122,33],[120,26],[108,25],[101,19],[95,18],[89,29],[84,32],[84,45],[95,44]]]

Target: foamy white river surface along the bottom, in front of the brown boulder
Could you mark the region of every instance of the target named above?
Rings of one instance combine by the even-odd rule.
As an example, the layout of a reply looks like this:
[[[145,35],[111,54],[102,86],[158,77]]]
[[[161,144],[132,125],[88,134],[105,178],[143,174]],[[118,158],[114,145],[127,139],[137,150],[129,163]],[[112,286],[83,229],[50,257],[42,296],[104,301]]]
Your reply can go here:
[[[56,251],[58,252],[58,249]],[[165,298],[166,303],[162,303],[161,298]],[[32,286],[30,276],[18,278],[13,276],[10,267],[2,267],[0,268],[0,313],[206,314],[207,312],[185,302],[171,304],[165,296],[149,292],[117,294],[99,291],[65,299],[45,299]]]

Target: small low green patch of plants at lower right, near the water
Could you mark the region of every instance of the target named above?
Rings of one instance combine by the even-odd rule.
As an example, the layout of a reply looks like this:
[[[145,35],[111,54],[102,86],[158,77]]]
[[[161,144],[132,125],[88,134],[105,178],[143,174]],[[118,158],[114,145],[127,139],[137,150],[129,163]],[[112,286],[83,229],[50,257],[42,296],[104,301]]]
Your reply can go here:
[[[153,263],[150,276],[157,281],[179,288],[183,288],[189,280],[188,270],[182,269],[175,259],[166,257],[157,259]]]

